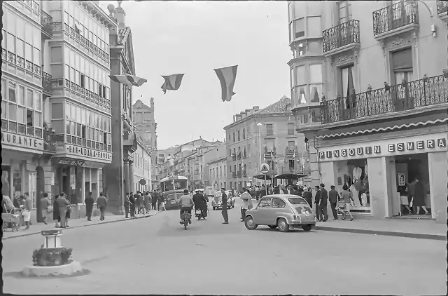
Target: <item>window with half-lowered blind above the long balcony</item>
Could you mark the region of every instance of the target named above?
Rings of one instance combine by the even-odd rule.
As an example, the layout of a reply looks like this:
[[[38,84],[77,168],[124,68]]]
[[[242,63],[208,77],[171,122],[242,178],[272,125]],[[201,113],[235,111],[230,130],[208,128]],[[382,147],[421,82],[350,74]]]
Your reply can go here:
[[[391,64],[392,85],[402,83],[403,79],[406,79],[406,81],[413,80],[412,48],[391,53]]]

